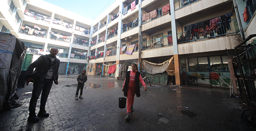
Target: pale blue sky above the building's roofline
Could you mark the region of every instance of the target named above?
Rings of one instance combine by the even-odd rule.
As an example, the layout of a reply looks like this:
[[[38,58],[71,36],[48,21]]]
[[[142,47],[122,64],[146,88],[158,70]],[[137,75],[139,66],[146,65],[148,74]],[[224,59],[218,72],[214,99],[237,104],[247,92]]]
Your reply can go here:
[[[44,1],[54,4],[56,6],[59,6],[63,9],[68,9],[69,11],[77,13],[86,18],[95,19],[102,12],[104,12],[104,10],[106,10],[111,4],[113,4],[114,1],[116,0],[44,0]]]

